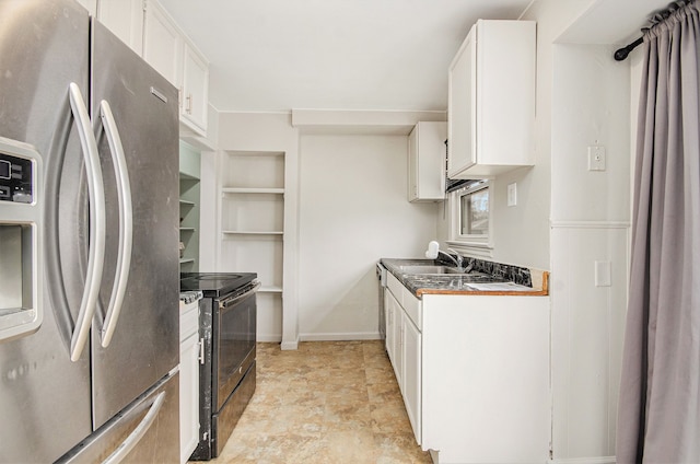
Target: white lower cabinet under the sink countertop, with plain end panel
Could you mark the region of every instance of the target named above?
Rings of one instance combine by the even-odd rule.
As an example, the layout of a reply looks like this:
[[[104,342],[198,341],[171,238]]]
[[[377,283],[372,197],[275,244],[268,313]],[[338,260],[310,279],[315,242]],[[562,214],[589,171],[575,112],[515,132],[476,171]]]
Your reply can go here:
[[[547,462],[549,299],[418,300],[387,277],[387,350],[421,448],[441,464]]]

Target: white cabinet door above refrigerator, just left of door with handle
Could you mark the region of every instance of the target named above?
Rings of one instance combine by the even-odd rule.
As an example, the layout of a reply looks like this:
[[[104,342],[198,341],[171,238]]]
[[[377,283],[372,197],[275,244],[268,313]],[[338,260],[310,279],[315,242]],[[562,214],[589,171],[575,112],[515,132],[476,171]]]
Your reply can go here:
[[[143,59],[180,91],[182,56],[183,40],[177,26],[156,1],[149,1],[143,24]]]

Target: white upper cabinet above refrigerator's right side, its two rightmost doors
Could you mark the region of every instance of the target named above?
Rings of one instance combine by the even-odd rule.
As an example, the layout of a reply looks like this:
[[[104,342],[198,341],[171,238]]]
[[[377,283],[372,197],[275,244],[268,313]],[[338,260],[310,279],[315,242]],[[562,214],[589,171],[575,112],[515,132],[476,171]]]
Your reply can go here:
[[[209,62],[158,1],[148,0],[143,58],[178,89],[180,129],[207,135]]]

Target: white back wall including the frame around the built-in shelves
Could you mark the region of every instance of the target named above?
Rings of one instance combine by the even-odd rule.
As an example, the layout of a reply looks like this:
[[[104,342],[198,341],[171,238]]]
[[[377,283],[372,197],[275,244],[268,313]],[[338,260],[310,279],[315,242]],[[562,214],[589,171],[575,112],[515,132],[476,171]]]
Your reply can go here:
[[[213,250],[202,254],[202,269],[222,270],[225,259],[217,245],[225,151],[284,152],[293,217],[284,220],[283,308],[271,313],[260,304],[258,335],[283,348],[300,339],[378,338],[374,265],[422,257],[442,211],[441,204],[408,202],[408,137],[300,136],[280,113],[221,113],[218,132],[219,151],[202,154],[202,198],[210,198],[202,201],[202,248]]]

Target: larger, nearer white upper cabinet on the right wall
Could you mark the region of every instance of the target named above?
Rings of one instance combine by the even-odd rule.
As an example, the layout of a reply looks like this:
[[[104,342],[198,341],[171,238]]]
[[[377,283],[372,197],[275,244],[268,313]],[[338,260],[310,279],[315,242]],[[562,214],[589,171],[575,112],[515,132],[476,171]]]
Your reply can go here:
[[[534,164],[536,24],[479,20],[448,76],[450,178]]]

